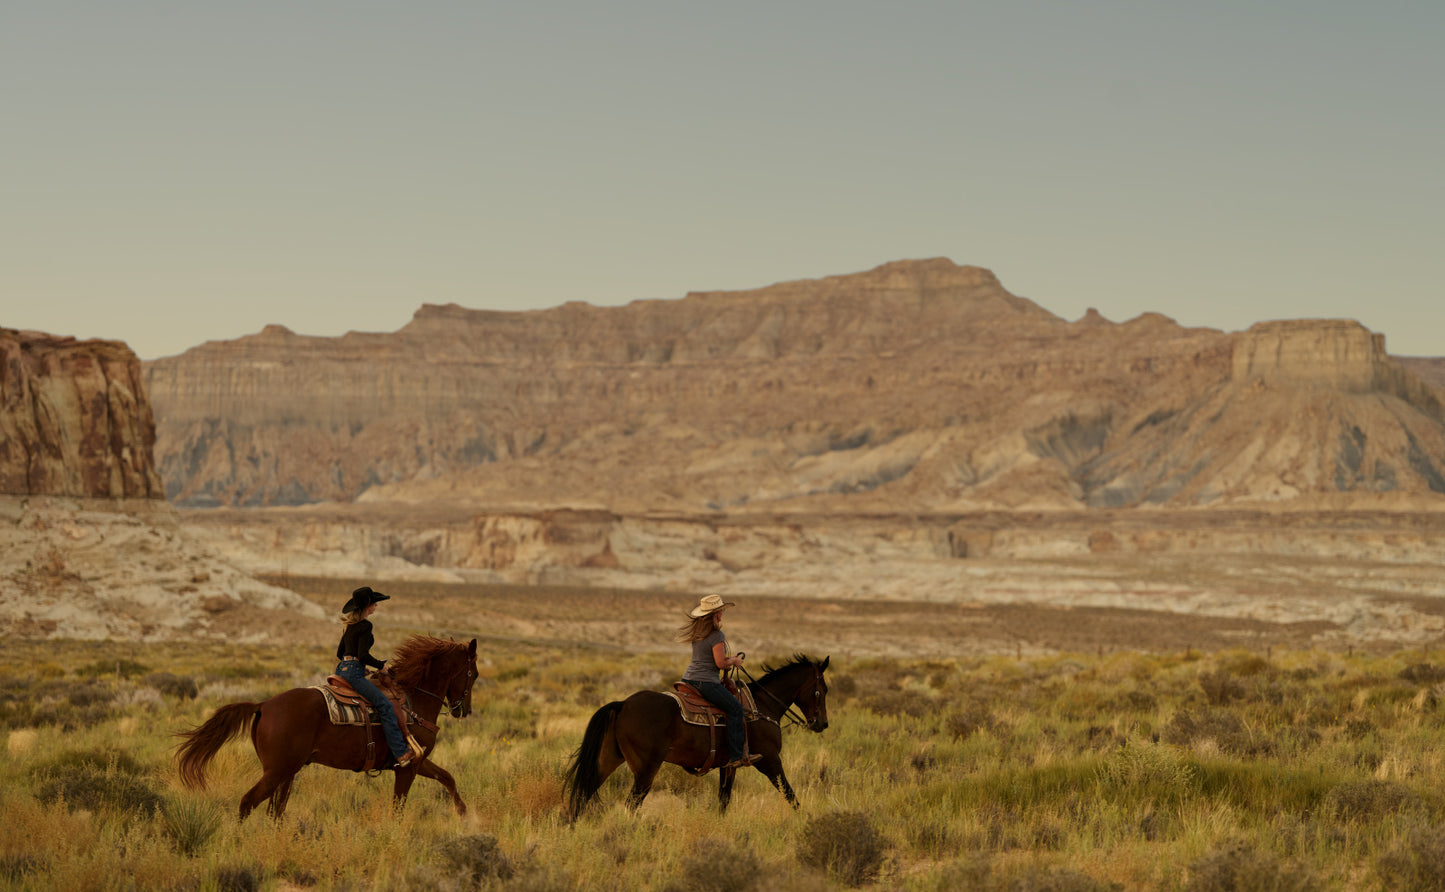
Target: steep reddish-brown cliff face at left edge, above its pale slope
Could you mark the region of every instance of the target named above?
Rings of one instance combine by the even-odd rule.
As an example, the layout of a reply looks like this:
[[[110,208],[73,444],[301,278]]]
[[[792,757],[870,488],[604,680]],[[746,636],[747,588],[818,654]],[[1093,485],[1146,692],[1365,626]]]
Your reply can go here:
[[[0,494],[162,499],[140,360],[0,328]]]

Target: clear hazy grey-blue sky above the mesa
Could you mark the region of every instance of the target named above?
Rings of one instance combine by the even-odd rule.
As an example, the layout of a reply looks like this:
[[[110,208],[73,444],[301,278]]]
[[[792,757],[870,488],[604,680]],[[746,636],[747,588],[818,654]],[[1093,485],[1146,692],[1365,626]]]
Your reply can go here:
[[[143,359],[946,256],[1445,356],[1445,3],[4,0],[0,325]]]

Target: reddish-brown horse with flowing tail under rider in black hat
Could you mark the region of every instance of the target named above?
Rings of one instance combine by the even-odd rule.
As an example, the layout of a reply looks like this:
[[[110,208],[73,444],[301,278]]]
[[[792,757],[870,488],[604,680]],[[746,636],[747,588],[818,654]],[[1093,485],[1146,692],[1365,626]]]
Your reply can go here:
[[[436,746],[436,717],[442,707],[454,719],[471,714],[471,687],[477,681],[477,639],[464,645],[425,635],[412,636],[396,649],[387,662],[387,671],[410,700],[416,719],[407,719],[407,730],[423,747],[422,758],[407,768],[396,769],[392,786],[396,804],[406,801],[412,781],[422,775],[447,788],[457,814],[467,814],[467,804],[457,794],[457,781],[426,756]],[[176,747],[181,782],[191,789],[205,789],[205,766],[227,740],[247,727],[251,732],[251,746],[262,760],[262,779],[241,797],[241,820],[263,799],[267,801],[266,810],[279,818],[286,811],[290,782],[311,762],[350,771],[366,766],[367,729],[358,724],[332,724],[321,691],[292,688],[263,703],[223,706],[204,724],[176,734],[182,739]],[[371,726],[371,742],[373,752],[380,755],[377,765],[394,769],[380,724]]]

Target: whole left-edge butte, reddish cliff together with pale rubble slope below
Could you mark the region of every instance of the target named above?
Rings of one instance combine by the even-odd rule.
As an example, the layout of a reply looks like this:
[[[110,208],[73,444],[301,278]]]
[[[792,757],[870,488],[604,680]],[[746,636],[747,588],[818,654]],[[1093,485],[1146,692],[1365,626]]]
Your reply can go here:
[[[0,636],[264,640],[319,622],[182,529],[140,361],[0,328]]]

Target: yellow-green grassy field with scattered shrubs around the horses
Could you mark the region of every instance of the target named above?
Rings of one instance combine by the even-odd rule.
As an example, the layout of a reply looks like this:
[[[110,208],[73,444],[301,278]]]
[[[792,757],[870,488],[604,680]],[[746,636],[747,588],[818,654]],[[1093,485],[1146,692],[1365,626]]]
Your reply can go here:
[[[588,717],[679,658],[483,638],[434,756],[464,818],[426,779],[394,814],[389,773],[308,768],[282,821],[238,823],[244,740],[179,786],[175,732],[316,682],[328,651],[0,645],[0,888],[1445,889],[1438,653],[834,653],[831,727],[785,736],[801,810],[741,772],[720,817],[715,775],[668,766],[637,812],[623,769],[569,824]]]

